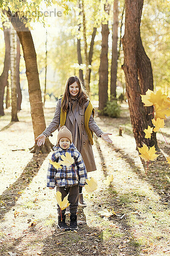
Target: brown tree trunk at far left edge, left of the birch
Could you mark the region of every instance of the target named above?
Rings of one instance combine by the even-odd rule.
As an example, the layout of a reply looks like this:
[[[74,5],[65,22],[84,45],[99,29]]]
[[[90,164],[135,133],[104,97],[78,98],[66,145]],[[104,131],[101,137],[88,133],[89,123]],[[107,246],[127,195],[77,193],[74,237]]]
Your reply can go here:
[[[8,70],[10,66],[10,29],[6,29],[3,26],[4,40],[5,40],[5,58],[4,58],[4,66],[3,73],[0,76],[0,116],[4,116],[3,109],[3,98],[4,98],[4,90],[8,84]]]

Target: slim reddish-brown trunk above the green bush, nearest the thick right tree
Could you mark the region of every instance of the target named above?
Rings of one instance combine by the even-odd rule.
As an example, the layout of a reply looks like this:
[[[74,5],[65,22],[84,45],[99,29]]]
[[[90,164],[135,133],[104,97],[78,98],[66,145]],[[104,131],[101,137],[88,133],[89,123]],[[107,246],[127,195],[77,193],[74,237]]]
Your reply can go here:
[[[113,4],[113,25],[112,25],[112,59],[111,59],[111,100],[116,98],[116,79],[117,79],[117,41],[118,41],[118,0]]]

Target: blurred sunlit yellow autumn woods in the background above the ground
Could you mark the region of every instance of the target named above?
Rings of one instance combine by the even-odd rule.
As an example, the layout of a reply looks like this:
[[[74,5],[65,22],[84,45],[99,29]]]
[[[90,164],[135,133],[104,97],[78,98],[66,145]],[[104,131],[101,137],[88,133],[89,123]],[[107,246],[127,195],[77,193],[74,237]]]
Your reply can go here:
[[[170,95],[169,0],[145,0],[144,3],[140,1],[143,8],[139,28],[144,52],[152,65],[151,84],[154,88],[161,88],[164,93]],[[13,13],[16,10],[14,3],[6,2],[6,6],[9,4]],[[31,22],[27,24],[31,28],[42,102],[45,102],[45,106],[50,105],[51,102],[55,104],[64,93],[68,77],[76,75],[82,80],[94,105],[99,107],[100,115],[119,116],[119,104],[122,101],[127,104],[128,98],[125,73],[122,69],[125,53],[122,38],[125,34],[126,5],[127,1],[124,0],[54,0],[48,3],[36,0],[34,4],[27,3],[26,8],[29,10],[42,11],[55,8],[61,11],[61,15],[56,17],[53,15],[31,17]],[[3,116],[3,108],[9,108],[11,104],[11,72],[9,50],[6,50],[10,47],[6,36],[8,29],[4,27],[3,13],[1,16],[0,115]],[[139,44],[141,44],[140,40]],[[29,95],[26,65],[19,43],[17,49],[17,110],[20,111],[22,104],[28,102]],[[144,70],[146,76],[147,69],[143,65],[141,72]],[[140,74],[142,73],[138,71],[139,78]],[[145,89],[140,86],[139,93],[144,93]]]

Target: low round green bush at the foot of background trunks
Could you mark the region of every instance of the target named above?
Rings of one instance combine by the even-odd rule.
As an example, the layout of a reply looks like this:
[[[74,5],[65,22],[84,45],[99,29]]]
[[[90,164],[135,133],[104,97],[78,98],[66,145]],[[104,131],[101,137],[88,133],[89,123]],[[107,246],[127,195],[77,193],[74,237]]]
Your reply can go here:
[[[107,102],[102,114],[109,117],[119,117],[121,113],[120,105],[118,105],[117,100]]]

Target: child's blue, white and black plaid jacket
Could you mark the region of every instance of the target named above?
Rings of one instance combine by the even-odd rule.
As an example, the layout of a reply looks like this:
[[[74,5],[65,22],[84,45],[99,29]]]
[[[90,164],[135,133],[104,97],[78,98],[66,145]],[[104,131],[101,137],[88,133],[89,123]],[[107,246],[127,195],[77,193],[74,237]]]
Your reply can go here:
[[[80,185],[85,186],[85,179],[87,179],[87,171],[85,168],[85,163],[82,159],[82,155],[71,143],[67,150],[60,148],[59,146],[54,146],[54,153],[51,156],[53,162],[59,162],[62,165],[61,155],[65,155],[65,152],[71,153],[71,157],[74,157],[74,163],[72,166],[63,166],[62,169],[56,169],[53,165],[49,163],[47,171],[47,186],[74,186]]]

